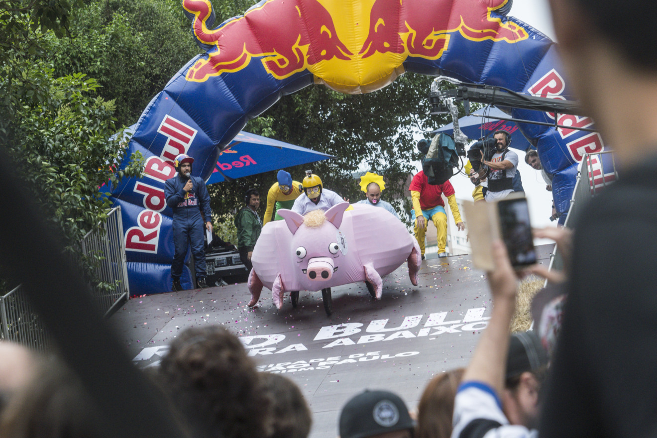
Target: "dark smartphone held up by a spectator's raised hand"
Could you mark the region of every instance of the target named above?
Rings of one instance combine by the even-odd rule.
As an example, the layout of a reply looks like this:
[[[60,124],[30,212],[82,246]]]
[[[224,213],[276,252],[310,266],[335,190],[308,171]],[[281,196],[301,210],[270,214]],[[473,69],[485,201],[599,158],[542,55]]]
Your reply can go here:
[[[502,239],[514,267],[536,263],[530,209],[526,198],[501,200],[497,204]]]

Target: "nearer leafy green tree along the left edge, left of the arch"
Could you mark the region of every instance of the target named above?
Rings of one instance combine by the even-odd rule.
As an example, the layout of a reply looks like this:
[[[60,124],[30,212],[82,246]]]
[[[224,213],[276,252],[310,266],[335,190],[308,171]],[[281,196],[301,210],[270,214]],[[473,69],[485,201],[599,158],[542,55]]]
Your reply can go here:
[[[37,189],[43,216],[79,256],[80,238],[97,228],[109,205],[99,188],[141,175],[143,164],[136,156],[116,171],[127,157],[120,135],[110,139],[117,134],[114,101],[98,97],[97,81],[84,74],[55,75],[49,34],[65,33],[68,3],[39,5],[0,2],[0,22],[11,25],[0,31],[7,47],[0,56],[0,145],[3,159]],[[78,258],[89,268],[95,257]]]

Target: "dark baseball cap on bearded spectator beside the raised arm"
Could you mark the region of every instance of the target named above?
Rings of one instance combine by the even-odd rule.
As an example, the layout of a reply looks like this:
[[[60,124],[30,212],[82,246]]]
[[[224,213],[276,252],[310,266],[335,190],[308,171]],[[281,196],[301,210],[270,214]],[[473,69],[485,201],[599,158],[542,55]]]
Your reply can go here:
[[[547,351],[535,332],[518,332],[510,336],[506,378],[520,376],[547,365]]]

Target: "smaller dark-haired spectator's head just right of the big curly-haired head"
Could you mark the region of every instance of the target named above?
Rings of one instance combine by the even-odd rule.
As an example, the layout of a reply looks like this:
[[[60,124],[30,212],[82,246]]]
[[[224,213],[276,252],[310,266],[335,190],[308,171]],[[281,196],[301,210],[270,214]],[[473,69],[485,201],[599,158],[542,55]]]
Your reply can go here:
[[[272,403],[272,431],[267,438],[306,438],[313,414],[299,387],[281,374],[263,372],[261,377]]]

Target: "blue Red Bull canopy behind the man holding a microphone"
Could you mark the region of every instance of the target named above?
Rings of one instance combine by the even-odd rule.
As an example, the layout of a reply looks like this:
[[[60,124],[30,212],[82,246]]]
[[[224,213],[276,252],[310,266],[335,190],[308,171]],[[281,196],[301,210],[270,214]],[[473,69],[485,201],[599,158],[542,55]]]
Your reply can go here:
[[[219,154],[207,184],[221,183],[256,175],[292,165],[306,164],[335,158],[315,150],[240,131],[225,150]]]

